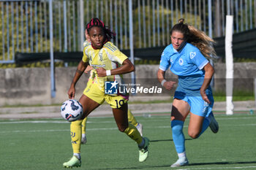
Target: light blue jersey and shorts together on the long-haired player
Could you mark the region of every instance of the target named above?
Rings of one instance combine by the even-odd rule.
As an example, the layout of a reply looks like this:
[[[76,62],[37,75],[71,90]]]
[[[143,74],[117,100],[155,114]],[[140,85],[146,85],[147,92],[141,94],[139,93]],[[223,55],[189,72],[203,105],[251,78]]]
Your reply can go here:
[[[175,50],[173,45],[168,45],[162,53],[159,65],[159,69],[162,71],[166,71],[170,67],[170,71],[178,75],[178,87],[174,98],[187,101],[190,105],[190,112],[203,117],[211,113],[214,105],[210,86],[206,89],[206,95],[211,104],[203,101],[200,96],[200,88],[205,76],[203,67],[207,63],[208,60],[197,47],[186,43],[180,51]]]

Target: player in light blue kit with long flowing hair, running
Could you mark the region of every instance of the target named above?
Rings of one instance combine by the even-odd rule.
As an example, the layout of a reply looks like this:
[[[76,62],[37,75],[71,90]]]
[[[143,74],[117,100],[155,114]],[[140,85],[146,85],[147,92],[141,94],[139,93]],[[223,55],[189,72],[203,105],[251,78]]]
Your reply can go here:
[[[217,133],[219,125],[211,112],[214,98],[211,93],[211,77],[214,68],[206,57],[216,55],[210,37],[180,19],[170,31],[171,44],[162,53],[157,77],[161,85],[170,90],[176,82],[166,81],[165,72],[170,67],[178,75],[178,87],[174,94],[171,111],[173,142],[178,153],[178,161],[171,167],[189,164],[185,152],[183,134],[184,120],[190,113],[188,134],[193,139],[203,134],[210,125]]]

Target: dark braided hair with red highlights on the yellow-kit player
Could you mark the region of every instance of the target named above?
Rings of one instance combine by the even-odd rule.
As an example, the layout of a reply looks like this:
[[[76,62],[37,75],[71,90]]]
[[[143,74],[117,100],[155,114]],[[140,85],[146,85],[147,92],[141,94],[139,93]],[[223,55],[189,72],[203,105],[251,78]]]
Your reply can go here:
[[[116,36],[116,33],[110,31],[110,29],[108,29],[105,26],[105,24],[102,22],[102,20],[99,20],[99,18],[91,18],[90,22],[87,23],[87,25],[86,25],[87,31],[89,32],[91,30],[91,28],[94,26],[98,26],[103,29],[105,36],[106,36],[104,44]]]

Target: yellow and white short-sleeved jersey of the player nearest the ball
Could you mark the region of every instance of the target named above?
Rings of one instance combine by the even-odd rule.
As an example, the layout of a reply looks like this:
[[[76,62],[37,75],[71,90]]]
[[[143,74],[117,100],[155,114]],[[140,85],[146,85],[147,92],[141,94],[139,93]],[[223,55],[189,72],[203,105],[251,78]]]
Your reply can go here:
[[[117,81],[122,83],[121,75],[110,75],[106,77],[98,77],[96,69],[102,67],[105,70],[116,69],[127,59],[127,55],[121,53],[116,45],[112,42],[106,42],[101,49],[91,47],[91,42],[85,42],[83,48],[83,62],[89,62],[93,67],[90,79],[94,80],[100,90],[105,91],[106,81]]]

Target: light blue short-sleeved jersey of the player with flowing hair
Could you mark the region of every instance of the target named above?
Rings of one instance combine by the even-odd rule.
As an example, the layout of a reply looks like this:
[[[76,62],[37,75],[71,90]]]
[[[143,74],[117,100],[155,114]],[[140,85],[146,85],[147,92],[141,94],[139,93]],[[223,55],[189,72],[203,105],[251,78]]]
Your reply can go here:
[[[162,53],[159,69],[166,71],[170,67],[170,71],[178,75],[181,88],[199,90],[205,74],[203,67],[207,63],[200,50],[190,43],[186,43],[180,51],[168,45]]]

